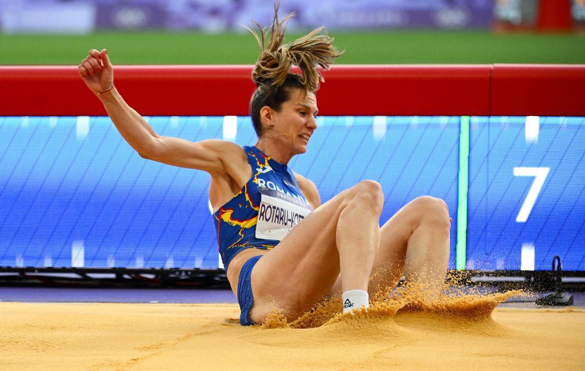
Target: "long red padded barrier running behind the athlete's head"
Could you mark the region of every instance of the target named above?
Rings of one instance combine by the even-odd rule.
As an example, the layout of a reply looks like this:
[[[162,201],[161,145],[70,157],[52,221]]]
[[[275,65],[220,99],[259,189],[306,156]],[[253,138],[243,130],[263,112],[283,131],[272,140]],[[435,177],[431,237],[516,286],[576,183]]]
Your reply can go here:
[[[250,65],[115,66],[148,116],[247,115]],[[334,65],[322,115],[585,116],[585,65]],[[73,66],[0,66],[0,116],[102,116]]]

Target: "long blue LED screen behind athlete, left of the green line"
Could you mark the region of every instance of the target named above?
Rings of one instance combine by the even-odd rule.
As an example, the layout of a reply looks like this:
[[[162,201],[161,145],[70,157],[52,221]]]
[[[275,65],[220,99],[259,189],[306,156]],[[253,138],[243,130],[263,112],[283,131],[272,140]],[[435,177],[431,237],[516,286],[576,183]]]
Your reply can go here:
[[[256,143],[248,117],[146,117],[163,136]],[[453,217],[460,117],[319,117],[290,167],[322,202],[381,183],[381,223],[420,195]],[[218,268],[209,176],[144,160],[108,117],[0,117],[0,266]]]

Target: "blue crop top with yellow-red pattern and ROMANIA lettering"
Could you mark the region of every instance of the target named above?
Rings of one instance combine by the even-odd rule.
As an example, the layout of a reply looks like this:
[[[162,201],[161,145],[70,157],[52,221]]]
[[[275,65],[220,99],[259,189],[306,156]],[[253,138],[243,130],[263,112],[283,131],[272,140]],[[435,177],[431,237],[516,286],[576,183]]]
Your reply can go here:
[[[214,213],[219,254],[226,272],[233,257],[248,248],[269,250],[278,240],[256,237],[256,224],[261,203],[261,190],[284,193],[289,199],[307,204],[292,171],[256,147],[243,147],[246,152],[252,178],[231,200]]]

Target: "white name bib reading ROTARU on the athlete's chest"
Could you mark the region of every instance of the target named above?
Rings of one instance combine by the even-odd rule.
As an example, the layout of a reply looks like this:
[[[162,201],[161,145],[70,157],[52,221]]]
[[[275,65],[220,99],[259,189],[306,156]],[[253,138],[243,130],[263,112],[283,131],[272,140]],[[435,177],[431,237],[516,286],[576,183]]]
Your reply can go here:
[[[260,210],[256,238],[282,241],[312,208],[293,196],[274,189],[260,188]]]

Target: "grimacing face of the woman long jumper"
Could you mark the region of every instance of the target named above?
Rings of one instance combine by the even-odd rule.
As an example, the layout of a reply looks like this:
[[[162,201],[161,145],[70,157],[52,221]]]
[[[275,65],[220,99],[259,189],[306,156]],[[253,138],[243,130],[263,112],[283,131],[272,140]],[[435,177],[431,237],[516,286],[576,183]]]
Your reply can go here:
[[[291,89],[290,99],[283,103],[279,112],[274,111],[272,123],[283,140],[287,140],[296,153],[305,153],[307,144],[317,128],[315,116],[318,113],[314,92]],[[270,134],[269,134],[270,135]]]

